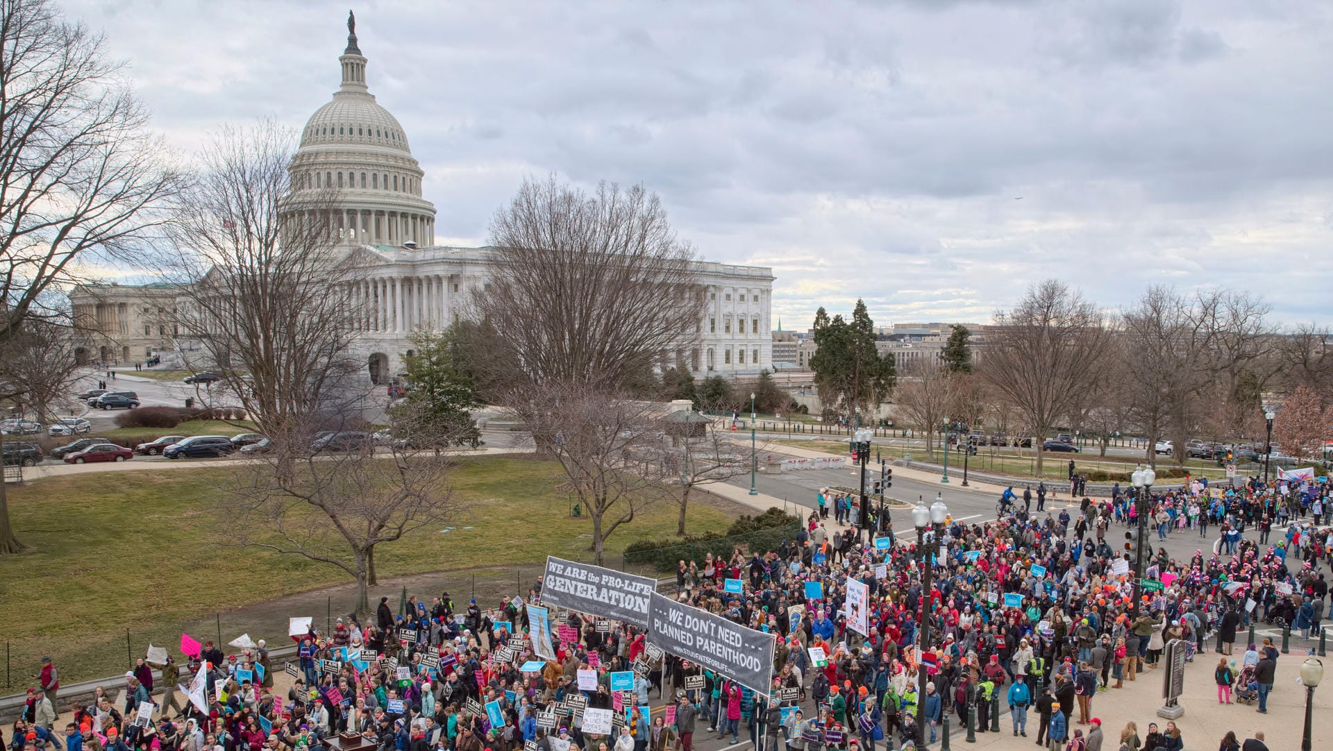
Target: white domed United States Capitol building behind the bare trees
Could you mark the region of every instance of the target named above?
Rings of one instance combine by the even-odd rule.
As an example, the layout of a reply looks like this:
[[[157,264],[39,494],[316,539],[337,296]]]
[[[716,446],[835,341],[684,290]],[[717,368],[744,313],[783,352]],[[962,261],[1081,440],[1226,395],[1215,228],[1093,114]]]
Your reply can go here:
[[[369,258],[356,289],[367,320],[353,348],[369,381],[383,383],[403,370],[412,332],[440,329],[464,316],[467,296],[484,293],[492,262],[504,249],[436,245],[435,204],[421,190],[425,173],[412,157],[403,125],[369,91],[368,60],[351,20],[348,31],[339,57],[341,85],[301,129],[289,166],[292,200],[285,205],[327,206],[327,198],[303,201],[303,193],[327,196],[335,189],[335,208],[321,208],[319,220],[331,222],[340,244],[360,246]],[[696,376],[772,369],[772,269],[704,261],[696,269],[708,301],[700,338],[668,358]],[[153,312],[172,304],[171,294],[165,285],[72,290],[75,314],[97,330],[87,358],[139,362],[160,356],[164,364],[193,365],[181,357],[191,349],[189,333],[153,322]]]

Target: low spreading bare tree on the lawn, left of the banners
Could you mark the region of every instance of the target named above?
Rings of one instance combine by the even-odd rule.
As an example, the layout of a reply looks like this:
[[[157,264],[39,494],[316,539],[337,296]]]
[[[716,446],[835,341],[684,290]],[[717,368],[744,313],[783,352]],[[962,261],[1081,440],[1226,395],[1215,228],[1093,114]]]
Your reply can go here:
[[[220,494],[224,538],[345,571],[356,581],[356,613],[368,615],[377,547],[461,513],[448,485],[452,459],[412,445],[315,455],[308,443],[275,447],[265,461],[239,467]]]

